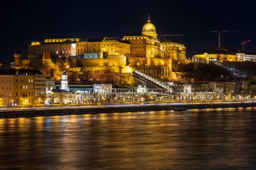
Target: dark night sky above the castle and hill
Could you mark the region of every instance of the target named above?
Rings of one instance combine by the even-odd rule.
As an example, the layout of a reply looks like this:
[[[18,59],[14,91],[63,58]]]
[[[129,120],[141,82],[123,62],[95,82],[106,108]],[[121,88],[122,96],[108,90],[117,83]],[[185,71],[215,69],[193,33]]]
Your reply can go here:
[[[6,2],[6,1],[5,1]],[[187,46],[187,56],[222,45],[256,50],[256,3],[253,0],[154,1],[8,1],[1,5],[0,60],[11,61],[15,50],[27,55],[31,41],[55,37],[102,38],[141,34],[150,14],[158,34],[185,34],[172,40]]]

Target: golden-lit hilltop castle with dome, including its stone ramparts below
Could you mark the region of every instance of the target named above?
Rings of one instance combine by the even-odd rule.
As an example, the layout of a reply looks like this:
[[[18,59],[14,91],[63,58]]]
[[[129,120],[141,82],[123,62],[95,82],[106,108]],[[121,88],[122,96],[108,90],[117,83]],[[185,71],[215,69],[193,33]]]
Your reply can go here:
[[[14,54],[14,59],[16,69],[30,69],[39,63],[41,66],[36,67],[43,73],[52,70],[56,79],[65,69],[67,74],[84,75],[80,77],[84,81],[116,83],[116,79],[123,81],[123,75],[135,70],[155,79],[171,79],[172,60],[185,62],[186,48],[183,44],[160,41],[148,16],[141,34],[127,35],[121,40],[115,37],[45,39],[28,46],[28,59],[23,59],[22,54]],[[65,67],[60,60],[64,60]]]

